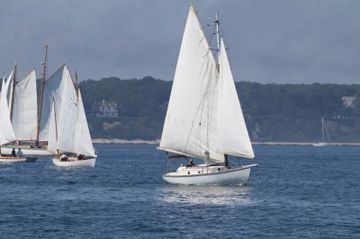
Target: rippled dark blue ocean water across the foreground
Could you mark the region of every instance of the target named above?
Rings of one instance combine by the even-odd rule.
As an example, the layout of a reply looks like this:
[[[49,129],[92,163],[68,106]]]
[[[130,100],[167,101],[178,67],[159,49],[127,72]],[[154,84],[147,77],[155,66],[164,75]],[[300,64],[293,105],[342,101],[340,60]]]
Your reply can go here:
[[[166,184],[149,145],[0,164],[1,238],[360,238],[359,146],[255,146],[247,186]]]

